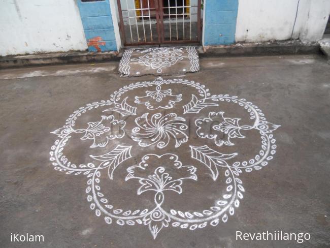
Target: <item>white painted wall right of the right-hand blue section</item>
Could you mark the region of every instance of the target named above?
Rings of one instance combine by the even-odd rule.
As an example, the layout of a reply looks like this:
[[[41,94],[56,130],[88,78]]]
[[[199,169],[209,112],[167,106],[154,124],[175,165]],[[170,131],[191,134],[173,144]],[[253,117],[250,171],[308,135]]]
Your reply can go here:
[[[322,38],[330,0],[239,0],[237,42]]]

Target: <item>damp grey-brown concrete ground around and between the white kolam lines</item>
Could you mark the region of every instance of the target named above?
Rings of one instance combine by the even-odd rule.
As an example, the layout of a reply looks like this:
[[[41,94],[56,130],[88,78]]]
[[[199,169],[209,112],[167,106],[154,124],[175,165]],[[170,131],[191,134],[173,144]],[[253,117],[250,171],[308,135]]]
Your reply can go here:
[[[225,223],[221,215],[219,223],[213,223],[216,226],[208,223],[206,227],[192,231],[189,230],[190,224],[188,228],[173,227],[172,220],[169,227],[163,227],[155,239],[143,223],[121,226],[113,218],[109,225],[104,220],[104,213],[96,216],[97,211],[95,215],[95,209],[90,209],[86,175],[54,170],[53,161],[49,160],[51,146],[56,140],[56,135],[50,132],[63,127],[65,120],[75,110],[87,103],[109,99],[120,87],[153,81],[155,77],[119,77],[116,73],[118,63],[12,69],[0,72],[0,246],[329,247],[330,66],[323,58],[312,55],[203,58],[200,62],[201,71],[198,73],[163,79],[201,82],[210,89],[211,94],[244,98],[258,106],[267,121],[281,125],[277,129],[274,126],[268,128],[273,129],[271,133],[277,145],[274,158],[268,161],[268,165],[251,172],[245,172],[243,168],[243,172],[238,173],[237,177],[243,181],[245,189],[244,198],[240,199],[240,205],[235,207],[233,215],[226,212],[228,220]],[[210,204],[221,200],[223,194],[229,194],[226,193],[229,184],[225,182],[226,168],[216,167],[219,176],[213,180],[208,167],[190,157],[189,145],[208,145],[224,154],[237,152],[237,158],[226,160],[229,165],[236,159],[251,159],[260,150],[260,133],[256,129],[241,130],[245,138],[230,139],[235,144],[232,146],[217,146],[213,139],[196,135],[192,120],[208,118],[209,111],[222,111],[223,117],[240,118],[241,127],[251,127],[253,120],[249,119],[243,107],[224,101],[219,102],[218,107],[211,106],[200,113],[183,115],[182,105],[189,103],[191,94],[197,95],[196,89],[182,84],[170,84],[162,89],[168,88],[172,89],[172,95],[182,94],[182,101],[176,102],[172,109],[158,109],[158,112],[163,116],[173,112],[191,120],[191,129],[189,125],[187,133],[189,139],[179,147],[174,146],[175,140],[171,137],[169,145],[163,149],[150,144],[150,140],[147,141],[148,146],[141,147],[137,139],[125,138],[109,140],[105,147],[90,148],[93,139],[90,136],[89,139],[81,139],[87,134],[85,131],[73,134],[65,145],[65,156],[77,166],[90,163],[90,154],[102,155],[118,145],[131,146],[131,158],[127,156],[127,160],[114,170],[113,179],[109,179],[107,170],[102,171],[100,176],[103,179],[103,193],[114,206],[109,212],[116,208],[122,208],[123,211],[152,209],[156,202],[167,210],[182,209],[186,219],[195,220],[198,216],[191,217],[190,214],[209,208],[212,206]],[[127,103],[134,105],[134,96],[145,96],[145,90],[149,88],[125,93],[128,96]],[[151,116],[157,111],[147,110],[144,104],[134,106],[138,108],[137,114],[125,118],[116,111],[101,112],[104,110],[101,107],[88,110],[77,120],[77,129],[86,128],[87,122],[100,121],[101,115],[113,114],[115,119],[126,121],[124,131],[127,136],[138,137],[131,132],[136,127],[135,118],[145,112]],[[115,134],[119,135],[120,132]],[[227,135],[223,134],[220,138],[226,140]],[[137,195],[141,184],[135,178],[125,181],[126,169],[137,165],[149,153],[178,154],[178,160],[184,166],[197,168],[195,172],[190,170],[190,175],[195,173],[198,179],[191,177],[182,180],[182,185],[176,184],[177,190],[182,187],[182,194],[169,190],[164,195],[157,193],[155,200],[153,191]],[[155,157],[153,159],[157,160]],[[164,157],[160,160],[164,167],[171,165]],[[97,164],[95,161],[93,163]],[[213,171],[216,169],[213,168]],[[228,170],[234,171],[234,168]],[[182,178],[180,173],[173,168],[170,171],[173,178]],[[208,212],[203,214],[208,215]],[[294,240],[236,240],[236,231],[261,233],[267,230],[310,233],[311,239],[301,244]],[[45,241],[14,243],[10,242],[11,233],[44,235]]]

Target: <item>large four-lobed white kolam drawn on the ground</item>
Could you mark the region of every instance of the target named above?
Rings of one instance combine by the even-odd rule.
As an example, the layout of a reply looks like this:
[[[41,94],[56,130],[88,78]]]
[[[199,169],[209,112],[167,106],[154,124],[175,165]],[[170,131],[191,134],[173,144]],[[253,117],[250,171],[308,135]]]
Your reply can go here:
[[[189,99],[179,94],[187,90]],[[129,98],[128,92],[135,91],[136,97]],[[237,109],[230,111],[228,106]],[[52,132],[57,138],[50,161],[55,170],[85,178],[87,202],[96,216],[107,224],[145,226],[155,239],[168,228],[197,230],[226,223],[243,199],[240,177],[273,159],[273,132],[278,127],[243,98],[211,95],[205,85],[194,81],[157,78],[129,84],[109,100],[74,111],[63,127]],[[256,147],[245,154],[239,144],[250,137],[249,147]],[[260,137],[259,144],[255,137]],[[89,161],[71,161],[71,152],[66,150],[71,151],[77,142],[85,145]],[[208,188],[205,180],[214,187]],[[129,183],[127,194],[139,201],[124,205],[116,201],[109,195],[116,182],[122,190]],[[218,197],[208,200],[205,196],[196,209],[193,200],[189,205],[179,204],[180,199],[193,198],[184,198],[194,194],[191,187],[205,188],[205,194],[213,190]],[[137,202],[141,207],[129,207]]]

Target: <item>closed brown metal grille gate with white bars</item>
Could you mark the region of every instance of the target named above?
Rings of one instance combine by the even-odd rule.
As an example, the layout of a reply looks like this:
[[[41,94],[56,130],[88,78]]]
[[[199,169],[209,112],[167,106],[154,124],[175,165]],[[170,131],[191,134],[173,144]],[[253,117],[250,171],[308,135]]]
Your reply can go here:
[[[117,0],[125,46],[200,43],[201,0]]]

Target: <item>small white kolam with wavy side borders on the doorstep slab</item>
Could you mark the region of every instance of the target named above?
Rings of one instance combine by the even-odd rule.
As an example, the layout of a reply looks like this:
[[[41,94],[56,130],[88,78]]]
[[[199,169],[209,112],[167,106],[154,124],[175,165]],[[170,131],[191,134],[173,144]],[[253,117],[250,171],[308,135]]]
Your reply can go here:
[[[138,58],[132,58],[134,52],[139,53]],[[149,49],[127,49],[119,63],[119,72],[124,76],[131,74],[130,63],[137,62],[141,66],[151,68],[155,72],[162,73],[163,69],[170,68],[183,59],[188,59],[190,68],[182,69],[182,72],[189,70],[190,72],[197,72],[200,70],[200,62],[197,51],[194,47],[160,47]],[[140,72],[133,73],[139,75]]]

